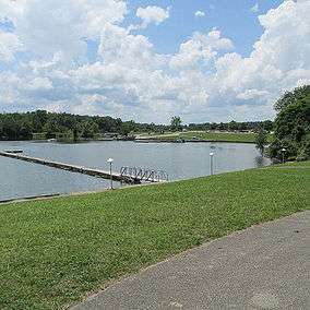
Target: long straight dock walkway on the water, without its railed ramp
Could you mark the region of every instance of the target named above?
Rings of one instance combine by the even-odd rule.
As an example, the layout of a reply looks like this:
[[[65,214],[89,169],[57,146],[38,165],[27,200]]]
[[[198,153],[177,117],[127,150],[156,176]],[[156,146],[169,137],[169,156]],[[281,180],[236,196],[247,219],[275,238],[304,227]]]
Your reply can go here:
[[[98,177],[103,179],[112,178],[115,181],[120,181],[120,182],[126,182],[126,183],[140,183],[139,179],[133,179],[132,177],[124,176],[124,175],[121,175],[115,171],[110,174],[110,171],[98,170],[94,168],[86,168],[83,166],[76,166],[76,165],[71,165],[71,164],[58,163],[58,162],[53,162],[49,159],[29,157],[29,156],[21,155],[20,153],[15,153],[13,151],[0,152],[0,156],[24,160],[28,163],[35,163],[35,164],[39,164],[44,166],[49,166],[52,168],[58,168],[58,169],[68,170],[72,172],[79,172],[79,174],[83,174],[83,175],[87,175],[92,177]]]

